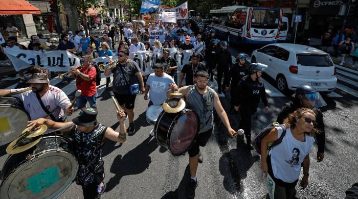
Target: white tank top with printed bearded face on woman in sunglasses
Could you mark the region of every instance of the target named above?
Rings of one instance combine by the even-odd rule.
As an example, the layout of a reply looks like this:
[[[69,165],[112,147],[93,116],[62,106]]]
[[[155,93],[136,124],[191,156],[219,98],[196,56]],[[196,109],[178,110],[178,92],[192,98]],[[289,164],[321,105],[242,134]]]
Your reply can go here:
[[[279,138],[282,134],[281,127],[276,127]],[[282,142],[270,150],[271,166],[275,178],[286,183],[293,183],[300,177],[301,164],[309,154],[315,138],[305,135],[306,141],[301,142],[294,138],[291,130],[286,130]]]

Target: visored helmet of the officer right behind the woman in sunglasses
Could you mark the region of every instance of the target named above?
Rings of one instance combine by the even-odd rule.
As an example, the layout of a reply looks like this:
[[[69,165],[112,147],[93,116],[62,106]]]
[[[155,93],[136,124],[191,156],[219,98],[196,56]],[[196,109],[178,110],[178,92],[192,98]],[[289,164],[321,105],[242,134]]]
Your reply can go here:
[[[306,108],[323,107],[327,105],[316,88],[306,84],[297,87],[295,101],[300,102],[301,105]]]

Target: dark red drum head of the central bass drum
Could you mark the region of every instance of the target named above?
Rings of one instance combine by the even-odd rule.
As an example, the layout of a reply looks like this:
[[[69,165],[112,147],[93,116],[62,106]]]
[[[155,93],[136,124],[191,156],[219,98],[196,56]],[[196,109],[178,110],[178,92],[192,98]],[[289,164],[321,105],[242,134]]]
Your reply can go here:
[[[196,113],[188,111],[175,123],[170,136],[169,148],[173,155],[180,155],[189,150],[198,128]]]

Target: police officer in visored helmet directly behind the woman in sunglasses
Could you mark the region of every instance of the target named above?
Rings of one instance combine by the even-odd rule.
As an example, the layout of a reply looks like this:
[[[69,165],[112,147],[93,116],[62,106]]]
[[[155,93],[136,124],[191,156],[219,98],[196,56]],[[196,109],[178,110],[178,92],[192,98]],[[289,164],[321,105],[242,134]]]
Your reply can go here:
[[[325,147],[323,114],[319,107],[326,105],[326,102],[314,87],[309,85],[300,85],[296,89],[294,100],[292,102],[288,102],[282,107],[282,110],[276,120],[277,122],[282,123],[283,119],[286,118],[288,114],[293,113],[298,108],[306,107],[312,109],[316,114],[317,124],[315,126],[319,131],[321,131],[320,134],[316,134],[318,145],[317,159],[319,162],[321,162],[324,158]]]

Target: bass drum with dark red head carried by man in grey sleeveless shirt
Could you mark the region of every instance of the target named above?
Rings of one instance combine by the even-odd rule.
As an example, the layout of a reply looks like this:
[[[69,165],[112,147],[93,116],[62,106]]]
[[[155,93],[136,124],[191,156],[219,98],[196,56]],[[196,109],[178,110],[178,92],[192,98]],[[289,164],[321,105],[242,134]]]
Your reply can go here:
[[[198,126],[198,116],[192,110],[184,109],[178,113],[163,111],[154,125],[155,138],[172,155],[182,155],[193,143]]]

